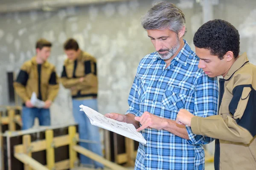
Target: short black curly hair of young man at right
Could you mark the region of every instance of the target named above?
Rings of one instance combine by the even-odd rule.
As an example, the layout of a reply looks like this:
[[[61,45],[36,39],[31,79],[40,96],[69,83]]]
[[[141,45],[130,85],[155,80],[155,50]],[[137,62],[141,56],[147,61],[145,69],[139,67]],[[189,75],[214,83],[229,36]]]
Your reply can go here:
[[[208,49],[219,59],[223,59],[227,51],[232,51],[235,58],[239,56],[239,32],[227,21],[211,20],[204,23],[193,40],[197,48]]]

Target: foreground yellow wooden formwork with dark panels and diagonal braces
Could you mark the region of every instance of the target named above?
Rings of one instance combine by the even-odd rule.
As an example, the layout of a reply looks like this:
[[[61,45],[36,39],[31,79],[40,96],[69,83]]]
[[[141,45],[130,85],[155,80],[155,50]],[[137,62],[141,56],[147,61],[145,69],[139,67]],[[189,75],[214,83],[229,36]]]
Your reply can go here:
[[[104,164],[112,170],[126,170],[79,145],[78,125],[41,127],[6,132],[4,170],[67,170],[78,163],[78,153]]]

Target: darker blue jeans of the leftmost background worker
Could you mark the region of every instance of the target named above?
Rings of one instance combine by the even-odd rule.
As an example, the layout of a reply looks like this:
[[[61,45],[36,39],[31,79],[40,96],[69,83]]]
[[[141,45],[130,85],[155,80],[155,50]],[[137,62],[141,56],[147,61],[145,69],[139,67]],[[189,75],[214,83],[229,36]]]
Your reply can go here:
[[[49,126],[51,124],[50,110],[44,108],[27,108],[23,106],[21,119],[22,130],[31,128],[34,125],[35,118],[38,118],[40,126]]]

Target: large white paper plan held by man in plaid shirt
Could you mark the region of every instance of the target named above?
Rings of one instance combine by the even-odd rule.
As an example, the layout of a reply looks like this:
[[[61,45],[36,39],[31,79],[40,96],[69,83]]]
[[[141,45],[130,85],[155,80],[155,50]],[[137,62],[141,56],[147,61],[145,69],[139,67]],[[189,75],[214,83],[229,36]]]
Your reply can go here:
[[[134,125],[107,118],[101,113],[84,105],[80,105],[79,107],[81,108],[80,111],[84,111],[86,116],[90,119],[90,123],[92,125],[110,130],[114,133],[118,133],[119,135],[131,138],[143,144],[147,143],[142,134],[136,131]]]

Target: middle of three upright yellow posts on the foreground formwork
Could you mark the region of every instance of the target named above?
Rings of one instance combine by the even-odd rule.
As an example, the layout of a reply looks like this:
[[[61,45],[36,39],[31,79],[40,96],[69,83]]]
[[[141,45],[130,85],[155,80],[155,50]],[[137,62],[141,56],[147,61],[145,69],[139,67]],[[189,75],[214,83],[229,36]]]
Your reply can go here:
[[[55,154],[54,154],[54,146],[53,146],[53,130],[45,131],[45,139],[46,139],[47,168],[49,170],[52,170],[54,168],[54,163],[55,163]]]

